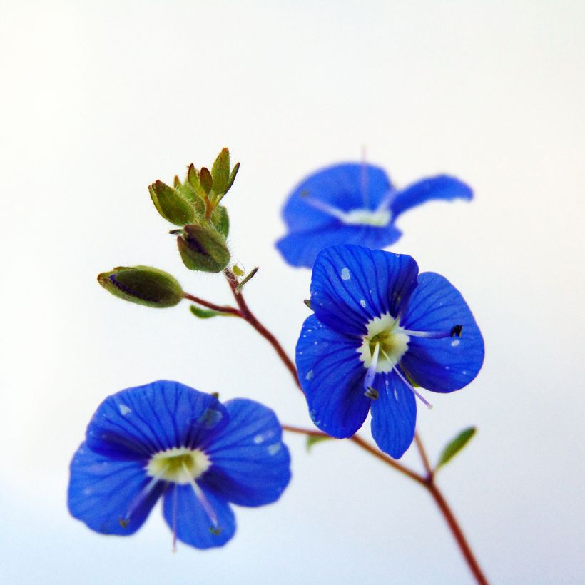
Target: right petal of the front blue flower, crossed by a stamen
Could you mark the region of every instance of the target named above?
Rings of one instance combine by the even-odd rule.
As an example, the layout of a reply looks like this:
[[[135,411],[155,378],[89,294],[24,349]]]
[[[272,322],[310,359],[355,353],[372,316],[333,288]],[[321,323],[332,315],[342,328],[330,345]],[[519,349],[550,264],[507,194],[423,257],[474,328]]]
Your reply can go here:
[[[450,330],[462,325],[462,336],[443,339],[411,337],[401,366],[418,385],[452,392],[469,384],[484,362],[484,340],[461,293],[447,278],[419,275],[410,297],[404,327],[417,331]]]

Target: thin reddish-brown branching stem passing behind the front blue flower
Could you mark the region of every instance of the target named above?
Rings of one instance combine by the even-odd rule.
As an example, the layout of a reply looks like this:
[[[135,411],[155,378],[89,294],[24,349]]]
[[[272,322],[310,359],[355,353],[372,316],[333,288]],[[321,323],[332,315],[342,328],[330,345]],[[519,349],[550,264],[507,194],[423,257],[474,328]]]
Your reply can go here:
[[[276,337],[274,337],[274,335],[270,333],[270,331],[268,331],[268,329],[266,329],[266,327],[264,327],[264,325],[262,325],[262,323],[260,323],[260,321],[258,321],[258,319],[255,317],[255,315],[245,302],[241,291],[236,290],[236,288],[238,288],[238,279],[235,277],[235,275],[228,269],[226,269],[224,272],[226,278],[228,279],[228,283],[230,284],[230,288],[235,298],[235,302],[238,303],[239,307],[238,316],[248,321],[248,323],[250,323],[250,325],[252,325],[252,327],[254,327],[254,329],[258,331],[260,335],[262,335],[265,338],[265,340],[267,340],[270,343],[270,345],[274,347],[275,351],[278,354],[278,357],[280,357],[280,360],[283,361],[284,365],[289,370],[290,375],[292,375],[292,378],[295,380],[297,387],[299,387],[300,391],[302,392],[302,387],[298,380],[297,369],[295,367],[295,364],[292,362],[292,360],[290,360],[290,357],[288,357],[285,350],[283,350],[283,346],[280,345]],[[320,431],[300,429],[299,427],[290,427],[288,425],[283,425],[283,429],[288,432],[307,434],[310,435],[311,437],[321,436],[329,437],[329,435],[322,433]],[[479,568],[479,564],[475,559],[475,556],[471,548],[469,547],[469,544],[467,543],[467,539],[465,538],[462,529],[459,527],[457,519],[455,519],[452,509],[449,507],[449,504],[447,504],[447,502],[445,501],[439,487],[437,487],[437,484],[434,483],[434,474],[429,464],[427,452],[424,450],[422,441],[418,434],[417,433],[414,434],[414,442],[416,443],[417,449],[419,450],[420,457],[424,465],[424,470],[426,472],[426,476],[419,475],[416,472],[413,472],[411,469],[408,469],[404,465],[398,463],[391,457],[388,457],[386,454],[382,453],[378,449],[375,449],[375,447],[372,447],[372,445],[367,443],[364,439],[358,437],[357,434],[351,437],[350,441],[357,444],[357,446],[360,447],[361,449],[364,449],[377,459],[380,459],[380,461],[384,462],[393,469],[396,469],[398,472],[409,477],[410,479],[413,479],[419,485],[427,489],[427,491],[432,495],[434,501],[437,503],[437,506],[439,507],[439,510],[443,514],[444,519],[447,521],[449,529],[451,530],[451,533],[453,534],[454,539],[457,542],[457,545],[459,546],[459,550],[461,551],[461,554],[463,555],[465,561],[467,561],[467,566],[469,566],[469,570],[472,571],[472,574],[475,577],[477,583],[479,585],[487,585],[487,579],[485,578],[482,569]]]

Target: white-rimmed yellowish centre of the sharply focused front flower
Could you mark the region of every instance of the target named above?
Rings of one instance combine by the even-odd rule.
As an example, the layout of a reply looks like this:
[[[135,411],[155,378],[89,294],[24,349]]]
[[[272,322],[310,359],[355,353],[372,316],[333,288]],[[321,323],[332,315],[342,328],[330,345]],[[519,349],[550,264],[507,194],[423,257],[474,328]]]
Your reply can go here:
[[[390,313],[374,317],[367,324],[367,333],[358,347],[360,360],[368,368],[377,359],[376,372],[390,372],[408,350],[410,337]],[[376,347],[379,349],[376,351]],[[377,355],[376,355],[377,354]]]

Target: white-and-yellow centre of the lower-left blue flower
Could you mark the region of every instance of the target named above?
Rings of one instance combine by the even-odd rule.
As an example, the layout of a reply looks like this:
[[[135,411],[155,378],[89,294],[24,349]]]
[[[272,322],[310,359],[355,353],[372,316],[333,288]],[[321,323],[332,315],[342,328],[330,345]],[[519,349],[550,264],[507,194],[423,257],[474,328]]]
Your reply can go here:
[[[166,482],[186,485],[205,473],[211,465],[209,457],[200,449],[173,447],[151,457],[146,472]]]

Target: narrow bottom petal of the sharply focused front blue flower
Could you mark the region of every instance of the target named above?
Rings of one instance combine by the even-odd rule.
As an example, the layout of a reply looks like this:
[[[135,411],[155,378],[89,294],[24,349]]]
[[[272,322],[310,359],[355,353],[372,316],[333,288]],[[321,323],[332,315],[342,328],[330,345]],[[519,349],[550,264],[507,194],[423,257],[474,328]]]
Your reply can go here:
[[[400,459],[414,439],[414,393],[395,372],[378,374],[374,387],[380,395],[372,400],[372,437],[383,452]]]

